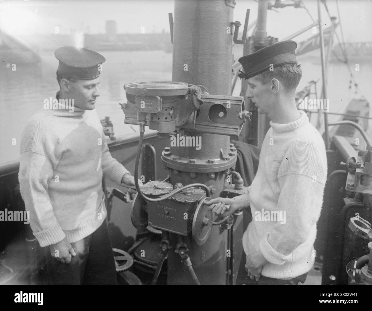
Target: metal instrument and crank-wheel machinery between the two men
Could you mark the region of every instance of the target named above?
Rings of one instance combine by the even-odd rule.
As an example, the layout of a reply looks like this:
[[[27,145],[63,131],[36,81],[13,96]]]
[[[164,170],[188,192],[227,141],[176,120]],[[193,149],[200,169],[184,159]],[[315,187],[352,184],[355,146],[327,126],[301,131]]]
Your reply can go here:
[[[247,192],[240,175],[233,171],[236,148],[224,137],[239,135],[251,114],[245,110],[243,97],[211,95],[203,86],[184,82],[139,82],[124,88],[128,99],[128,104],[122,105],[125,123],[140,125],[136,182],[144,126],[170,136],[170,147],[161,155],[169,178],[138,187],[132,205],[131,219],[136,228],[150,225],[163,232],[153,284],[167,257],[168,284],[211,284],[213,266],[205,264],[208,256],[221,257],[217,238],[227,237],[229,244],[229,229],[242,213],[216,219],[203,202]],[[177,144],[177,140],[188,143]],[[235,184],[229,183],[231,176]],[[211,234],[214,241],[208,240]],[[174,252],[169,252],[171,248]],[[223,273],[226,275],[226,270]]]

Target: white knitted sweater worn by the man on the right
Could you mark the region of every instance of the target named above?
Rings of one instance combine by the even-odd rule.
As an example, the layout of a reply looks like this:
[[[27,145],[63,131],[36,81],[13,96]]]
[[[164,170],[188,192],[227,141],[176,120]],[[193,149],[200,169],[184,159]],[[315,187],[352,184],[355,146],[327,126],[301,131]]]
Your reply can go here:
[[[262,275],[276,279],[302,275],[314,264],[327,177],[324,141],[306,113],[300,113],[288,124],[270,122],[257,174],[248,188],[253,220],[243,235],[244,251],[261,250],[269,262]],[[285,221],[275,219],[278,211]]]

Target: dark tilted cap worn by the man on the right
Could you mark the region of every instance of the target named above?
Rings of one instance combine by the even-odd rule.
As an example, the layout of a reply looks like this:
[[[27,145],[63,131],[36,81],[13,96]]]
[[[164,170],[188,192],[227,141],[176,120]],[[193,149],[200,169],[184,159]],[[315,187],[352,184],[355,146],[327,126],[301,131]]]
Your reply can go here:
[[[238,77],[246,78],[247,80],[269,70],[270,64],[273,64],[274,67],[285,64],[297,64],[296,48],[297,43],[295,41],[287,40],[271,44],[257,52],[245,55],[239,58],[245,73],[239,70],[240,74],[238,74]]]

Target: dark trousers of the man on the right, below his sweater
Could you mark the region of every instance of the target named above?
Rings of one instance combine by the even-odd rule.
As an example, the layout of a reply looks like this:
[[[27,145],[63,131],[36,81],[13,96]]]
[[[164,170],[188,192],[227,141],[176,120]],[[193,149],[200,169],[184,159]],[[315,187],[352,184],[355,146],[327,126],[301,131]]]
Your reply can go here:
[[[296,278],[290,280],[267,278],[267,276],[261,276],[258,282],[256,281],[256,279],[251,280],[246,271],[246,254],[243,251],[240,260],[236,285],[298,285],[299,282],[304,283],[306,277],[307,273],[296,276]]]

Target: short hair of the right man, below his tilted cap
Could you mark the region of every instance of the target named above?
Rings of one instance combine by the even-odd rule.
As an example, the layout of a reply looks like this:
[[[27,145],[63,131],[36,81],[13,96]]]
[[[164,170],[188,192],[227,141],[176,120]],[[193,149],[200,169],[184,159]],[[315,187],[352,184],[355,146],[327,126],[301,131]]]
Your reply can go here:
[[[254,76],[261,84],[266,84],[276,78],[283,84],[285,90],[295,90],[302,77],[301,65],[285,64],[274,67],[274,70],[267,70]]]

